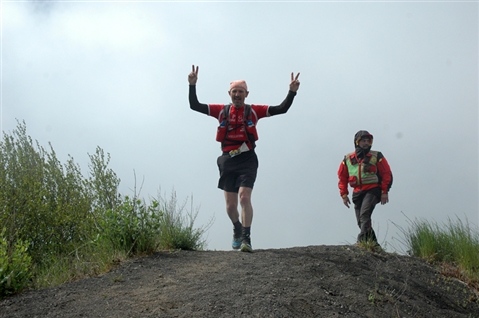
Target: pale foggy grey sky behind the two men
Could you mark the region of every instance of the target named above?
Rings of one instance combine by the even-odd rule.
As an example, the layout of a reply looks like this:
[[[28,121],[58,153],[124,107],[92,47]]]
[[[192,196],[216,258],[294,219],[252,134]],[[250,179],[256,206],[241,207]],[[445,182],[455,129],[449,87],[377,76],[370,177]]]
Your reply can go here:
[[[373,227],[400,248],[408,218],[478,223],[477,2],[2,2],[1,130],[17,120],[59,159],[88,173],[100,146],[121,193],[193,198],[208,248],[229,250],[217,189],[217,122],[189,109],[248,103],[287,114],[258,123],[255,249],[354,243],[354,210],[337,169],[358,130],[389,161],[394,183]],[[136,175],[136,181],[135,181]],[[136,182],[136,183],[135,183]],[[189,206],[189,205],[188,205]],[[397,246],[397,247],[396,247]]]

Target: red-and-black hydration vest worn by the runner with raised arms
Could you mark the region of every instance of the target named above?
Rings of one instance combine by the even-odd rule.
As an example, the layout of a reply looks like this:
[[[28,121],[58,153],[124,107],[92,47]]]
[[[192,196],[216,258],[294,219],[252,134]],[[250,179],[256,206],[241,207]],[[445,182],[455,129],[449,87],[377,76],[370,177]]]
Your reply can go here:
[[[245,104],[243,114],[243,122],[236,127],[230,126],[230,109],[231,104],[224,105],[223,108],[223,120],[221,121],[218,130],[216,132],[216,141],[221,142],[221,147],[224,147],[226,143],[229,145],[238,144],[241,145],[247,140],[234,140],[228,138],[228,133],[236,129],[244,129],[244,132],[247,136],[248,141],[251,144],[252,149],[256,147],[255,141],[258,140],[258,132],[256,131],[256,126],[252,120],[251,114],[251,105]]]

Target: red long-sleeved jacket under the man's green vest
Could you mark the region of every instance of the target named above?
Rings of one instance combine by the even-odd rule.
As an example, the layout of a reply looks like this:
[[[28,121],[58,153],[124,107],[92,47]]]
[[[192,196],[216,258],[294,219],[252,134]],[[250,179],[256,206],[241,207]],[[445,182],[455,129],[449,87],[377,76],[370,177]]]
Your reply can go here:
[[[358,164],[361,164],[364,162],[364,159],[359,159],[356,155],[356,152],[353,152],[351,154],[348,154],[346,156],[349,156],[350,159],[353,161],[357,161]],[[344,157],[344,160],[341,162],[339,165],[338,169],[338,187],[339,187],[339,194],[341,196],[348,195],[348,184],[349,184],[349,171],[348,167],[346,164],[346,160],[348,160],[347,157]],[[368,153],[366,157],[371,157],[371,153]],[[377,158],[377,174],[379,176],[379,183],[373,183],[373,184],[360,184],[357,185],[355,184],[353,187],[354,192],[359,192],[359,191],[367,191],[376,187],[381,188],[381,193],[388,193],[389,188],[392,185],[392,172],[391,168],[389,167],[389,163],[387,162],[386,158],[383,156],[381,152],[378,152],[378,158]]]

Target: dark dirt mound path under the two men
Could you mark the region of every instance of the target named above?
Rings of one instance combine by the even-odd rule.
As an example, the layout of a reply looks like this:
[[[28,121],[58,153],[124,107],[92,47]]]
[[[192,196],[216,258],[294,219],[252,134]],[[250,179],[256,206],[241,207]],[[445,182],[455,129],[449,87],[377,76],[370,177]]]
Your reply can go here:
[[[0,317],[479,317],[464,283],[354,246],[162,252],[0,301]]]

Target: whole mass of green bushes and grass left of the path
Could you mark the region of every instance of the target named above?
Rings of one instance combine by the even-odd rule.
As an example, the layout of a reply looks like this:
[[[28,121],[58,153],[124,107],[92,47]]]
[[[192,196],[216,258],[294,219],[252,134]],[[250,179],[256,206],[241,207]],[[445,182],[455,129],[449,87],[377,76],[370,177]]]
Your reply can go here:
[[[85,178],[73,158],[65,165],[33,142],[25,123],[0,143],[0,296],[52,286],[108,270],[123,257],[158,248],[202,249],[206,228],[183,215],[176,195],[147,204],[118,193],[120,179],[100,147]]]

